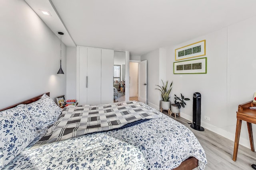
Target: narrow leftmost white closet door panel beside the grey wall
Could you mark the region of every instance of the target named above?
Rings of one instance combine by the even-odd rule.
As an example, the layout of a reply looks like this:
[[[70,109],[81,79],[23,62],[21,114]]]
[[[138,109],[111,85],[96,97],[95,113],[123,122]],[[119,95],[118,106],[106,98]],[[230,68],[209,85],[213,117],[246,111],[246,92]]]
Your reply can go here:
[[[80,81],[79,81],[79,105],[87,104],[87,88],[86,88],[86,76],[87,76],[87,48],[80,47]]]

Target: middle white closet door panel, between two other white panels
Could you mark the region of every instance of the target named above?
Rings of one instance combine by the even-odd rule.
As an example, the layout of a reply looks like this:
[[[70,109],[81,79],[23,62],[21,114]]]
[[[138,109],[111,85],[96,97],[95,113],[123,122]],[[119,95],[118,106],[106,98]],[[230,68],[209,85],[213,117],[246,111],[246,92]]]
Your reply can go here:
[[[101,102],[101,49],[88,48],[87,52],[87,104]]]

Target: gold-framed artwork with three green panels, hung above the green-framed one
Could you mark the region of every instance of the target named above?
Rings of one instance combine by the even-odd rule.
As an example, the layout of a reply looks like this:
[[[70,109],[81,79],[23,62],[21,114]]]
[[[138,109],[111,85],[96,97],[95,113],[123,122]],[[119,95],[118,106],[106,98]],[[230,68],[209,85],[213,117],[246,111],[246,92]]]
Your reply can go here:
[[[175,50],[175,61],[199,57],[206,54],[205,40],[180,47]]]

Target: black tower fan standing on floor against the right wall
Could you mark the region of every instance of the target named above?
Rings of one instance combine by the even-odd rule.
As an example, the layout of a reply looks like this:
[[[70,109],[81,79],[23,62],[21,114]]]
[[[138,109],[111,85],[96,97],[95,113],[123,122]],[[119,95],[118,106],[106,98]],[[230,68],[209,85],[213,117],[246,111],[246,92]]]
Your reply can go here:
[[[201,94],[198,92],[193,94],[193,124],[190,127],[197,131],[204,131],[201,127]]]

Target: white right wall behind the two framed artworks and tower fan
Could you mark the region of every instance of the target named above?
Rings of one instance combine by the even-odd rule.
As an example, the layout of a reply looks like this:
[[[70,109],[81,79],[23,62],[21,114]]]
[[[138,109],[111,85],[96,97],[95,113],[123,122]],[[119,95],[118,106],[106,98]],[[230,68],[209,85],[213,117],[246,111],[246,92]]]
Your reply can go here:
[[[234,141],[238,105],[252,100],[256,92],[256,81],[252,78],[256,68],[253,53],[255,30],[256,18],[251,18],[164,48],[167,56],[166,79],[173,80],[172,102],[174,94],[180,93],[191,99],[181,109],[181,117],[192,121],[192,94],[200,92],[201,125]],[[203,39],[206,39],[206,56],[202,57],[207,57],[207,74],[173,74],[175,49]],[[205,115],[210,117],[210,121],[204,119]],[[255,125],[253,131],[255,134]],[[246,123],[242,124],[240,144],[250,147]]]

